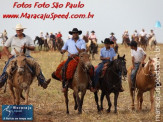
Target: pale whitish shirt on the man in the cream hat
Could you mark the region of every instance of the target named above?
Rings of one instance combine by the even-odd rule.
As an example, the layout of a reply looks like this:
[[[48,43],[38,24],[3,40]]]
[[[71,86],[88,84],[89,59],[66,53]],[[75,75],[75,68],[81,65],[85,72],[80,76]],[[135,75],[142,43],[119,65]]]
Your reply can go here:
[[[16,56],[14,48],[18,52],[22,52],[23,50],[21,49],[22,46],[26,44],[27,46],[35,46],[34,41],[31,39],[31,37],[24,35],[22,39],[19,39],[16,35],[12,36],[10,39],[8,39],[5,43],[6,47],[11,47],[11,54]],[[30,55],[30,51],[26,49],[25,55]]]

